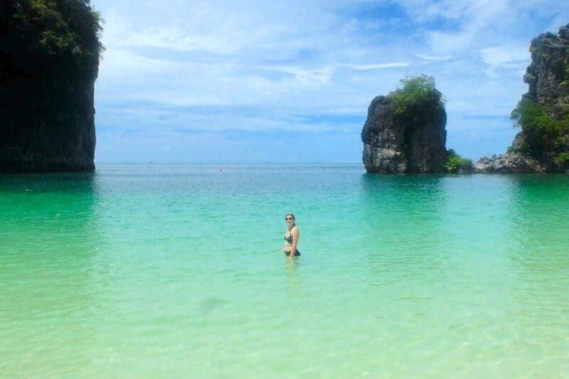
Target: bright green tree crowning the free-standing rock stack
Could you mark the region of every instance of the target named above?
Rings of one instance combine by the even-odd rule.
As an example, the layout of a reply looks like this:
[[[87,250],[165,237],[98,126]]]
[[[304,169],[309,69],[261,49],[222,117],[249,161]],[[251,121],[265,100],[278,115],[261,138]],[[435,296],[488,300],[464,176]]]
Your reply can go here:
[[[402,87],[389,92],[389,104],[395,114],[406,114],[436,107],[445,107],[442,93],[435,88],[435,78],[430,75],[405,76]]]

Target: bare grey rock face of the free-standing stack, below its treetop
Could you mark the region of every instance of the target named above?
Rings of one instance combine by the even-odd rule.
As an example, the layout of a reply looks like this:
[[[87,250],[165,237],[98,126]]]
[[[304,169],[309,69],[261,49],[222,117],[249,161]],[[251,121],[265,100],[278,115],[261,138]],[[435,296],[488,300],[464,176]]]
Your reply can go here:
[[[446,124],[444,107],[433,105],[430,112],[398,117],[388,96],[376,97],[361,131],[363,166],[383,174],[444,172]]]

